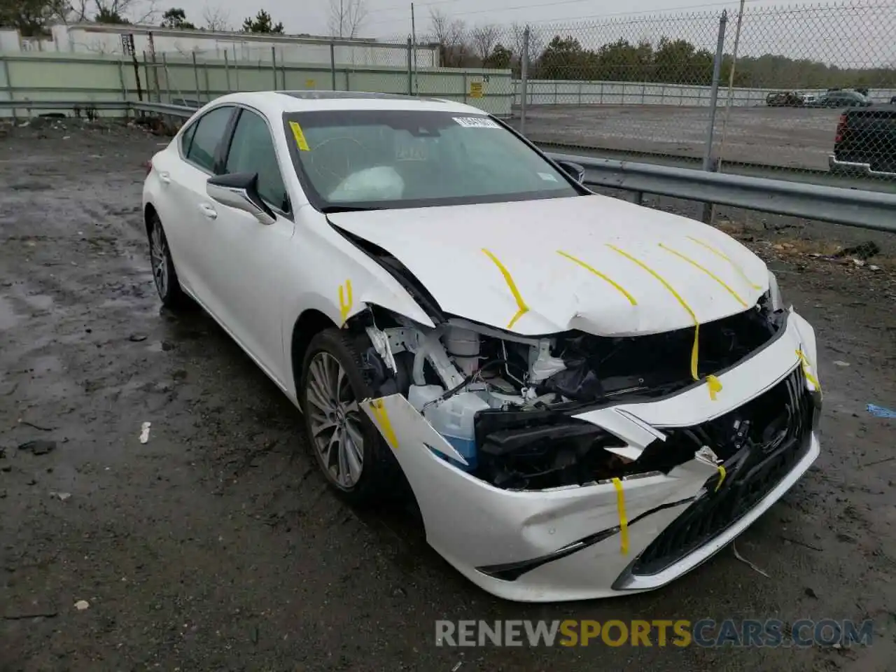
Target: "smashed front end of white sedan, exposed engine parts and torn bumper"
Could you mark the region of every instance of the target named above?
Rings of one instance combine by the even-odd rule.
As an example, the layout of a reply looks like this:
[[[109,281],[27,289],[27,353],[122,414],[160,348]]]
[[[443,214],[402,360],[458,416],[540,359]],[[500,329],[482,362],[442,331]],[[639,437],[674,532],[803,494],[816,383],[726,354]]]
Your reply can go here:
[[[819,452],[812,329],[765,301],[700,325],[700,380],[694,330],[527,338],[375,306],[347,326],[373,390],[362,406],[394,439],[427,541],[507,599],[665,585]]]

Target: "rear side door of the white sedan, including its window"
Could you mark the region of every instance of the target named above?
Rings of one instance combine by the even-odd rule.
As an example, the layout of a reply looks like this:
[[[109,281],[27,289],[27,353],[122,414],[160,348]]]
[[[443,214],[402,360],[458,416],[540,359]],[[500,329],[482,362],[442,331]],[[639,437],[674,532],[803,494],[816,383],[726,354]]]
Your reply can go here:
[[[205,182],[215,174],[216,160],[227,135],[232,105],[212,108],[185,129],[177,158],[170,157],[159,166],[159,179],[165,194],[159,210],[177,275],[202,304],[217,314],[218,299],[209,283],[210,263],[217,245],[213,227],[213,205],[205,192]]]

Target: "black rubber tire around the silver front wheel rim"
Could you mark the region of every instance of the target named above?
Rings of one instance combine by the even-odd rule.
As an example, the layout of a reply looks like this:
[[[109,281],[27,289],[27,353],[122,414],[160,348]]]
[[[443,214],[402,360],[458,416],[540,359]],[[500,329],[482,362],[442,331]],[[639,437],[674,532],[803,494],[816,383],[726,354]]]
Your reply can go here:
[[[353,426],[362,437],[363,454],[360,477],[356,482],[346,485],[339,480],[339,465],[328,464],[324,461],[322,448],[319,447],[314,435],[314,422],[322,418],[322,409],[308,400],[309,384],[312,378],[311,367],[315,363],[315,371],[320,371],[320,364],[330,364],[330,359],[335,360],[344,371],[348,382],[348,390],[354,401],[363,401],[375,396],[366,382],[361,366],[361,358],[358,354],[358,345],[349,332],[331,328],[319,332],[311,340],[302,362],[302,375],[297,390],[298,401],[302,406],[305,420],[305,432],[308,446],[314,453],[314,461],[326,478],[327,483],[349,504],[375,505],[394,504],[407,494],[409,488],[404,478],[401,467],[392,449],[383,441],[382,435],[374,424],[367,418],[366,413],[358,408],[357,416],[352,412],[343,414],[344,426]],[[323,354],[322,354],[323,353]],[[315,379],[316,383],[316,379]],[[320,388],[318,388],[320,389]],[[340,395],[337,395],[339,397]],[[331,395],[332,398],[332,395]],[[344,397],[348,399],[348,396]],[[340,401],[339,399],[337,401]],[[349,419],[351,418],[351,419]],[[320,426],[318,426],[320,428]],[[334,432],[336,430],[334,429]],[[345,434],[345,432],[343,432]],[[326,439],[328,430],[319,431],[317,436]],[[354,442],[351,442],[354,444]],[[337,450],[339,448],[337,447]],[[346,447],[346,451],[349,447]],[[346,465],[348,466],[348,465]],[[334,473],[335,470],[335,473]]]

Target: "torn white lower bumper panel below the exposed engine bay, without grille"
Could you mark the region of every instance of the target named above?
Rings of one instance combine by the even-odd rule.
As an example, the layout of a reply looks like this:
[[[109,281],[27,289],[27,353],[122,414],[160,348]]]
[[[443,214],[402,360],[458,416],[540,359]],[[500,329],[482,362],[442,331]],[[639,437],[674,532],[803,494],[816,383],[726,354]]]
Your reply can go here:
[[[394,454],[417,497],[429,544],[483,589],[521,601],[608,597],[672,581],[744,530],[818,452],[814,435],[806,437],[810,444],[800,460],[749,512],[688,556],[641,576],[633,560],[689,506],[711,496],[715,466],[692,460],[668,474],[619,479],[624,521],[613,482],[543,491],[493,487],[439,458],[437,452],[450,446],[400,394],[362,406],[381,430],[385,416],[401,437]]]

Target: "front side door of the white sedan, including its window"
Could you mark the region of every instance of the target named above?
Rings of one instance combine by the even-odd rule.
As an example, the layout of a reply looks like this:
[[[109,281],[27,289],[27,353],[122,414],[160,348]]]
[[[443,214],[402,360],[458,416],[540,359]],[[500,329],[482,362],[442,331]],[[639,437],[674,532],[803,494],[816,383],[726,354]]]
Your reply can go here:
[[[283,272],[290,259],[293,220],[271,127],[251,109],[240,108],[222,173],[258,175],[258,193],[274,212],[272,224],[211,202],[216,218],[215,259],[208,282],[218,297],[215,310],[230,332],[269,375],[285,383],[281,321]]]

